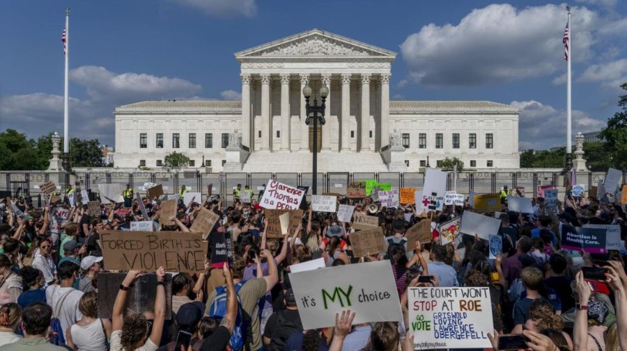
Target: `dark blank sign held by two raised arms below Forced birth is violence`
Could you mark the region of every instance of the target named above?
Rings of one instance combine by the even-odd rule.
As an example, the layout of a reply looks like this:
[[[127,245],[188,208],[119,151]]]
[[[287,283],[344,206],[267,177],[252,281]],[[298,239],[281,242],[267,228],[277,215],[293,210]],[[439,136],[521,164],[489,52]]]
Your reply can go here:
[[[108,264],[108,263],[107,263]],[[113,315],[113,307],[120,285],[124,281],[126,273],[98,272],[98,317],[109,318]],[[166,296],[165,319],[172,316],[172,276],[165,275],[163,287]],[[134,284],[129,286],[127,292],[125,315],[127,313],[144,313],[155,311],[155,298],[157,297],[157,275],[146,274],[137,278]]]

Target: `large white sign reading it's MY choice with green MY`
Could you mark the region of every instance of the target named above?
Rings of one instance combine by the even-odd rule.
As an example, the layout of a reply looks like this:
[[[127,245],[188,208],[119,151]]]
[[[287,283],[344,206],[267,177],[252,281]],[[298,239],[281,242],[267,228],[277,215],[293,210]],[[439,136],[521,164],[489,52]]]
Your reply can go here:
[[[291,273],[290,281],[303,329],[332,327],[343,309],[355,312],[353,324],[403,318],[388,260]]]

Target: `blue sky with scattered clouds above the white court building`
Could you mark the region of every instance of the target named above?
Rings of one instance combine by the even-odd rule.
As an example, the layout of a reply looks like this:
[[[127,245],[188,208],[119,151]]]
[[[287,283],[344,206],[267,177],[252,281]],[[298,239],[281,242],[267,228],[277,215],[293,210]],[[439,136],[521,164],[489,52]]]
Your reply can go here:
[[[574,0],[573,0],[574,1]],[[622,2],[622,4],[621,4]],[[64,8],[72,136],[114,144],[115,106],[238,99],[233,53],[310,28],[396,51],[392,99],[520,108],[520,149],[564,144],[565,3],[0,0],[0,129],[63,131]],[[624,0],[573,6],[573,132],[601,129],[627,82]]]

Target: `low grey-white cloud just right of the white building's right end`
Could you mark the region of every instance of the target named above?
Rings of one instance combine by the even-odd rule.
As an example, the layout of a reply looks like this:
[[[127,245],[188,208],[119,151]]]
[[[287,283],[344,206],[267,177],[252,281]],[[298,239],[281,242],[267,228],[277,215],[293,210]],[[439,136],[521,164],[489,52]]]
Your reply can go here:
[[[520,110],[518,133],[519,148],[548,149],[566,145],[566,111],[539,101],[512,101],[511,106]],[[572,111],[572,133],[598,131],[605,122],[579,110]]]

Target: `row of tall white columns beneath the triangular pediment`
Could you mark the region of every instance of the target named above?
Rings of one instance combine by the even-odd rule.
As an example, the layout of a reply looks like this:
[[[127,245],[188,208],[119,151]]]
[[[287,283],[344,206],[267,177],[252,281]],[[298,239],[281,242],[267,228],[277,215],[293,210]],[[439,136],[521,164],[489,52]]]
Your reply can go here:
[[[309,84],[310,74],[300,74],[300,91],[305,85]],[[341,78],[341,146],[340,151],[350,151],[350,80],[353,74],[342,73]],[[240,74],[242,79],[242,142],[245,146],[251,147],[253,144],[253,136],[251,135],[251,101],[250,101],[250,83],[251,74]],[[361,147],[359,151],[373,151],[370,147],[370,81],[372,75],[370,73],[359,74],[361,83],[361,114],[357,117],[358,130],[361,141]],[[385,147],[389,143],[389,73],[380,74],[380,86],[381,86],[381,147]],[[271,75],[269,73],[259,74],[261,80],[261,130],[268,135],[263,136],[261,140],[260,151],[270,151],[272,140],[272,131],[270,129],[270,83]],[[280,150],[290,150],[290,81],[291,74],[281,73],[279,74],[281,80],[281,146]],[[323,85],[331,86],[331,74],[321,74],[321,80]],[[331,115],[331,91],[326,101],[325,116]],[[305,99],[300,94],[300,147],[301,151],[309,151],[309,126],[304,123],[307,118],[305,112]],[[330,151],[330,123],[323,125],[322,133],[322,150]]]

